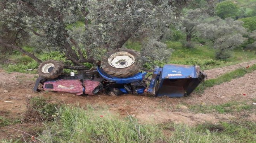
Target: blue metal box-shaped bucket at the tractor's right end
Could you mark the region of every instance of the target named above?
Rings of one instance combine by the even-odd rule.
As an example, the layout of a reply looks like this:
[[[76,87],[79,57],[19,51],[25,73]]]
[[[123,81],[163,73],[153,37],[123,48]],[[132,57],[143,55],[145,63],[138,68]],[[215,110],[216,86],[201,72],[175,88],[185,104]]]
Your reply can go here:
[[[201,83],[206,75],[199,66],[164,65],[156,85],[156,96],[187,96]]]

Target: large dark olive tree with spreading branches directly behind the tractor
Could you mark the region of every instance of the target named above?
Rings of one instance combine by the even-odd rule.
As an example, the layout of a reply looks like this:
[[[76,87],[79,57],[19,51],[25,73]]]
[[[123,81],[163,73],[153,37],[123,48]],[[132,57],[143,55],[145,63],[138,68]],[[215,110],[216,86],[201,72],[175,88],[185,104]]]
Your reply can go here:
[[[65,68],[84,70],[82,63],[97,63],[102,54],[121,48],[132,36],[159,38],[162,28],[166,29],[166,25],[175,20],[178,10],[187,2],[3,0],[0,2],[0,45],[16,49],[38,63],[42,61],[22,49],[24,44],[62,51],[75,65]],[[83,21],[84,26],[73,27],[78,21]]]

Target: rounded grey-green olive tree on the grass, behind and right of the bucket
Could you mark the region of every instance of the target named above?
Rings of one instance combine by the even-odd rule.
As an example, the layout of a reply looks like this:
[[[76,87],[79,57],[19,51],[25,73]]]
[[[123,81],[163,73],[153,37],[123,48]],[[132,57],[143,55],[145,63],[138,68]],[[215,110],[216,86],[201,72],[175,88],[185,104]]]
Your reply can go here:
[[[226,59],[230,55],[228,51],[242,44],[247,38],[243,37],[247,33],[242,26],[243,22],[227,18],[221,20],[216,18],[208,23],[202,23],[197,26],[201,37],[213,42],[216,52],[216,58]]]

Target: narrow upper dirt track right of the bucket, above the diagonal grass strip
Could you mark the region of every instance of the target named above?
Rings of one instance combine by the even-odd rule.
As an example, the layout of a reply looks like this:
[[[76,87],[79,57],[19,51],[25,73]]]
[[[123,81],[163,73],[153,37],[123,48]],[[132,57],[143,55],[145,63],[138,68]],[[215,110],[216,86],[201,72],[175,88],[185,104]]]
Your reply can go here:
[[[238,68],[242,68],[242,67],[246,67],[246,66],[251,66],[251,65],[254,65],[256,64],[256,60],[253,60],[253,61],[247,61],[247,62],[243,62],[243,63],[239,63],[239,64],[236,64],[236,65],[231,65],[231,66],[225,66],[225,67],[222,67],[222,68],[213,68],[213,69],[210,69],[210,70],[204,70],[204,73],[207,75],[208,79],[211,79],[211,78],[216,78],[224,73],[227,73],[227,72],[231,72],[233,70],[236,70]]]

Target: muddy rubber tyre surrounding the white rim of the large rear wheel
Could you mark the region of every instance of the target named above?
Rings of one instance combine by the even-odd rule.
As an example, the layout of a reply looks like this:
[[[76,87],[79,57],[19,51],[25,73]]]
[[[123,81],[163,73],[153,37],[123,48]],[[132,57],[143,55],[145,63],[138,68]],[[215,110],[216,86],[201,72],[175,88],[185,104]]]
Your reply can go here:
[[[111,58],[113,54],[116,54],[118,52],[127,52],[130,55],[132,55],[135,58],[133,61],[133,64],[125,68],[115,68],[111,66],[109,64],[109,58]],[[120,77],[120,78],[130,77],[138,73],[140,70],[140,63],[138,60],[139,57],[140,57],[140,53],[132,49],[117,49],[116,51],[109,53],[107,57],[103,58],[101,62],[101,67],[104,70],[104,72],[106,72],[107,74],[113,77]]]

